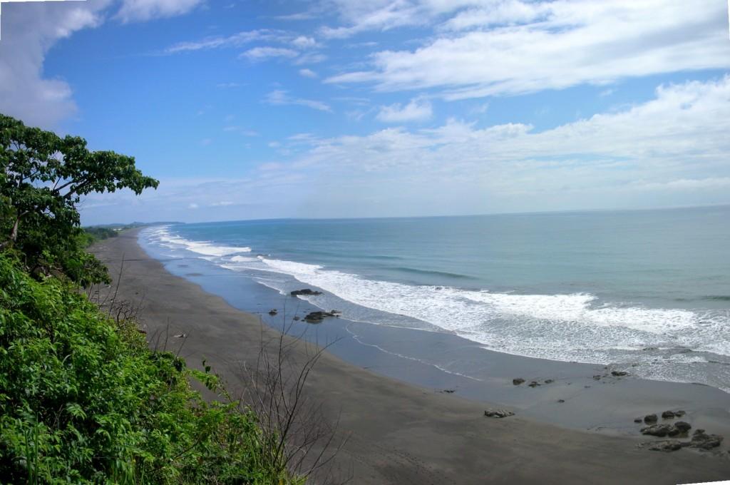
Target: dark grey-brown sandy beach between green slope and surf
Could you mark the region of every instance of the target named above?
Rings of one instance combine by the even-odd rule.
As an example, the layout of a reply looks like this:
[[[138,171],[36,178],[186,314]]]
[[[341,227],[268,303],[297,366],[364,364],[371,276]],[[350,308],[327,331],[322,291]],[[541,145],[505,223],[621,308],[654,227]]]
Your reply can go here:
[[[194,273],[171,274],[138,245],[138,232],[92,248],[112,277],[121,275],[118,299],[141,304],[143,329],[156,338],[151,345],[164,335],[167,348],[179,349],[191,367],[205,359],[231,394],[239,394],[245,386],[242,364],[255,359],[262,339],[277,338],[276,321],[233,308],[193,283]],[[373,338],[401,331],[383,332],[392,333]],[[320,338],[323,343],[328,337]],[[434,338],[423,337],[423,343]],[[296,348],[308,345],[291,340]],[[322,354],[306,387],[347,437],[334,465],[338,476],[352,476],[351,483],[677,484],[730,478],[725,443],[713,451],[650,451],[642,443],[658,438],[640,435],[633,423],[637,416],[682,408],[695,429],[730,436],[730,394],[710,386],[615,377],[603,366],[496,352],[485,354],[490,377],[480,381],[418,363],[408,363],[408,373],[415,374],[408,378],[404,365],[399,370],[404,359],[369,357],[358,345],[366,346],[343,340]],[[353,359],[342,359],[348,351]],[[540,385],[515,386],[513,378]],[[485,417],[490,408],[508,408],[515,416]]]

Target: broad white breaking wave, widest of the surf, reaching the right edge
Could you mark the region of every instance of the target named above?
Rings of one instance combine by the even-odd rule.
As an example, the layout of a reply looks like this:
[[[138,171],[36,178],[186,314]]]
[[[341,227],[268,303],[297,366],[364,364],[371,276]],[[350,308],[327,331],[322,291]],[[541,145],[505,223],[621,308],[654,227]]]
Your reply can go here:
[[[259,258],[264,269],[291,275],[366,308],[426,321],[510,354],[610,362],[611,354],[648,346],[685,346],[730,355],[723,313],[599,305],[593,294],[506,294],[449,286],[366,280],[316,264]]]

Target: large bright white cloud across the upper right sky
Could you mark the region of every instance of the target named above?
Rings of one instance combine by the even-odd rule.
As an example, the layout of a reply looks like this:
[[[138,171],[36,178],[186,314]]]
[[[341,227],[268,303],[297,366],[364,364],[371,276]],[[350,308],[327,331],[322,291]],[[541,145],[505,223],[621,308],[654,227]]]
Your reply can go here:
[[[385,91],[439,88],[447,99],[464,99],[730,67],[726,5],[720,1],[483,3],[447,20],[443,28],[456,33],[415,50],[375,53],[372,69],[328,82],[374,83]],[[428,7],[435,12],[442,6]],[[401,20],[411,18],[410,10],[401,10]]]

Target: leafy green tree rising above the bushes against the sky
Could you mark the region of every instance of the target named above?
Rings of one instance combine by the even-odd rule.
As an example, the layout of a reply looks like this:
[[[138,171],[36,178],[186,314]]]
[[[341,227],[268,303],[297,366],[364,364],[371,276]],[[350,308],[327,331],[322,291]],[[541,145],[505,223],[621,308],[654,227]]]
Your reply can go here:
[[[77,203],[92,192],[157,188],[134,157],[91,151],[81,137],[59,137],[0,114],[0,250],[15,248],[34,274],[61,272],[95,283],[104,266],[82,248]]]

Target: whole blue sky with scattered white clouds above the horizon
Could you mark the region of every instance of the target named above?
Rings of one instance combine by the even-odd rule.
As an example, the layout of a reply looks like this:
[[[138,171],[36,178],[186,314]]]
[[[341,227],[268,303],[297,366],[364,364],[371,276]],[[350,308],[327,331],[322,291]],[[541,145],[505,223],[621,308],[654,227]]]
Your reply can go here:
[[[83,224],[730,203],[726,0],[3,3],[0,112],[159,188]]]

